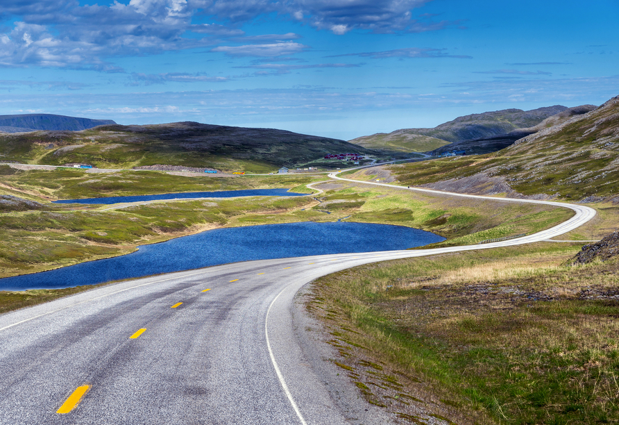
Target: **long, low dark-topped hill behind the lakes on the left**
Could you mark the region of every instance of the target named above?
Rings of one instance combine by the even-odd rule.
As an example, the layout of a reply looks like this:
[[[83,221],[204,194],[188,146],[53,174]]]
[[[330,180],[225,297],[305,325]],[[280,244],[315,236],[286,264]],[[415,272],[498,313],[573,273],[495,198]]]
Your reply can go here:
[[[327,153],[364,153],[344,140],[273,128],[176,122],[145,126],[98,126],[83,131],[36,131],[0,135],[0,158],[20,163],[87,163],[99,168],[151,165],[212,167],[270,172],[282,165],[332,165]]]

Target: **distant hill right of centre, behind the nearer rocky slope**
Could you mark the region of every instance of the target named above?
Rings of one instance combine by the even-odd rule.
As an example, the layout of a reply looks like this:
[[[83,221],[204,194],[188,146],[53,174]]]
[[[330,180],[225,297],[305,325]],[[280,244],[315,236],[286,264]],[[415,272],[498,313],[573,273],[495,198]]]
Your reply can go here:
[[[391,133],[377,133],[350,140],[368,149],[385,151],[432,151],[447,144],[507,135],[517,128],[532,127],[544,119],[566,110],[565,106],[549,106],[534,110],[504,109],[466,115],[434,128],[403,128]],[[451,149],[445,147],[443,149]],[[452,149],[453,150],[453,149]]]

